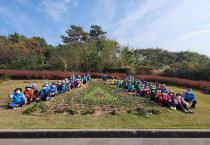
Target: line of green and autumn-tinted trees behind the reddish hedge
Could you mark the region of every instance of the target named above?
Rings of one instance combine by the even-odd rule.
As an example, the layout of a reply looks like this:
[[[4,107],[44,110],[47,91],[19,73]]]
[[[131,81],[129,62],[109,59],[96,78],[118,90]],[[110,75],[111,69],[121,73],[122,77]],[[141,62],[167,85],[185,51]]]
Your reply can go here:
[[[207,80],[210,58],[196,52],[169,52],[160,48],[134,49],[106,36],[101,26],[89,31],[70,25],[61,35],[63,44],[52,46],[42,37],[18,33],[0,36],[0,69],[53,70],[63,72],[110,72],[160,74]]]

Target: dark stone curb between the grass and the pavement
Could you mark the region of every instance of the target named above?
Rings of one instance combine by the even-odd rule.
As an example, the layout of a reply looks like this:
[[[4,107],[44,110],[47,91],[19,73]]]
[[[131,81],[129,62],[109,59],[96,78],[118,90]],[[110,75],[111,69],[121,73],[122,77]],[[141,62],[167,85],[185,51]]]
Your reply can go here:
[[[210,138],[210,130],[0,129],[1,138]]]

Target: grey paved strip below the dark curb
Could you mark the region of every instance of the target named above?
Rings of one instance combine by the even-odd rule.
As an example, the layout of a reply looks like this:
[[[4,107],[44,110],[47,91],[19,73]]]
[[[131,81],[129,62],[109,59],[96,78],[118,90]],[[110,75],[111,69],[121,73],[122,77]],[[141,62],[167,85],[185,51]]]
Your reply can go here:
[[[0,145],[209,145],[210,138],[0,139]]]

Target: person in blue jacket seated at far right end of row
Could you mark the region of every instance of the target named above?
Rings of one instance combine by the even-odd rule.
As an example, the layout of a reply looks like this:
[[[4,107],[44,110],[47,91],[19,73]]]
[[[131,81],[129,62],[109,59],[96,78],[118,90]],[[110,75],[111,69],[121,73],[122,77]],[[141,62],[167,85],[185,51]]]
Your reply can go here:
[[[186,102],[192,103],[191,108],[195,108],[195,104],[197,103],[195,94],[192,92],[191,88],[187,89],[187,92],[183,94],[184,100]]]

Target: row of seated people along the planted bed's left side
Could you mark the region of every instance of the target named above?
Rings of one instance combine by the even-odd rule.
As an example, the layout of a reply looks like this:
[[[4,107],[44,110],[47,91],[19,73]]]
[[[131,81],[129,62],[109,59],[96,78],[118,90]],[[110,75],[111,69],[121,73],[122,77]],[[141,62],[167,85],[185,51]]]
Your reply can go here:
[[[12,103],[8,103],[10,108],[16,109],[21,108],[25,104],[30,104],[33,101],[48,101],[51,97],[66,93],[75,88],[79,88],[82,84],[86,84],[91,80],[90,75],[84,75],[81,77],[77,75],[76,77],[71,76],[70,79],[66,78],[64,81],[52,82],[49,85],[45,82],[42,89],[39,91],[35,83],[27,85],[25,90],[22,92],[22,88],[16,88],[14,93],[9,93],[9,98],[13,99]]]

